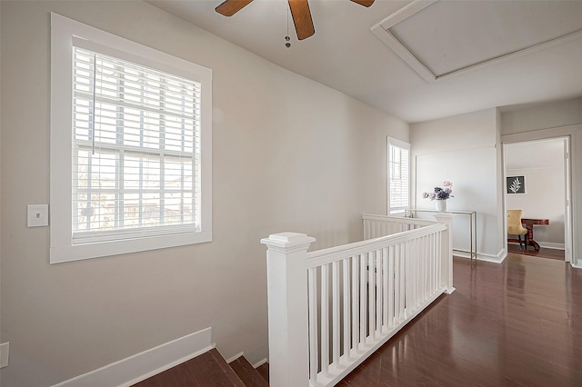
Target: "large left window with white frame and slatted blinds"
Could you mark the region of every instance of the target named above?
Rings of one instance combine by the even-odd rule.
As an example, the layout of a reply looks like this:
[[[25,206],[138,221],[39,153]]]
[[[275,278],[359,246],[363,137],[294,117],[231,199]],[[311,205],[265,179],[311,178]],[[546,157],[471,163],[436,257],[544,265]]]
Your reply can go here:
[[[210,241],[211,71],[55,14],[51,39],[51,263]]]

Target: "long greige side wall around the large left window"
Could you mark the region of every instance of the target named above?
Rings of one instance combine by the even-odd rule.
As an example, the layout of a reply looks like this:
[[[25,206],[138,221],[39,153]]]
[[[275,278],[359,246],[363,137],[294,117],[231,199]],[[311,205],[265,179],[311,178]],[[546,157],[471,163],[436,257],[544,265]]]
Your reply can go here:
[[[3,387],[46,386],[208,326],[226,357],[267,355],[266,248],[293,231],[314,248],[386,213],[386,135],[408,126],[143,2],[2,1]],[[48,264],[49,13],[212,68],[214,241]]]

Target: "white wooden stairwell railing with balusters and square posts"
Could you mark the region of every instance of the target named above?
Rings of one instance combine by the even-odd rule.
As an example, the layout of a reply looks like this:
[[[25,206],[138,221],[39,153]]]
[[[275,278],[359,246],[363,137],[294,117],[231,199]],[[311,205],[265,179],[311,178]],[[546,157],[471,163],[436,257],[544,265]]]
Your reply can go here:
[[[305,234],[263,240],[271,385],[335,385],[440,294],[452,293],[450,219],[364,215],[365,238],[374,239],[311,253],[314,239]],[[284,262],[297,278],[282,273]]]

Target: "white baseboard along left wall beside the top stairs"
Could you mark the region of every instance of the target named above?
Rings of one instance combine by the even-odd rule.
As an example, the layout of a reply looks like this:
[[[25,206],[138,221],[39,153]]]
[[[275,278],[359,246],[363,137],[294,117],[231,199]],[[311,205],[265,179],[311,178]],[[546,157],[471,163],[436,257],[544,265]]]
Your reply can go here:
[[[213,349],[212,328],[188,334],[144,352],[112,362],[53,387],[128,387]]]

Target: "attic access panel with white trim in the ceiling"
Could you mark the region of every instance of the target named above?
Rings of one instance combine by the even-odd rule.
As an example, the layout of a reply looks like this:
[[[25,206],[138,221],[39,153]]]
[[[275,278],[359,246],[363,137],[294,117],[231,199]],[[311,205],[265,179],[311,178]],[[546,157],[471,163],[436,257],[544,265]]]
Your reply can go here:
[[[416,0],[371,29],[435,82],[582,38],[582,2]]]

